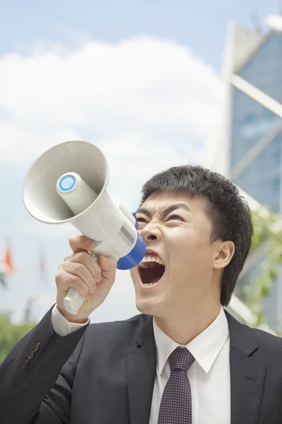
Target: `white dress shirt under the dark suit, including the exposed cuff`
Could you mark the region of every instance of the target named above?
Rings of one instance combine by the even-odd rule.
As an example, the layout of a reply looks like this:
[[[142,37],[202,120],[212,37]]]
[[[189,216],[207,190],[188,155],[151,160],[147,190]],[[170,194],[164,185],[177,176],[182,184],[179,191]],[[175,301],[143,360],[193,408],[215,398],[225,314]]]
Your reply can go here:
[[[89,322],[89,321],[88,321]],[[85,324],[68,322],[57,310],[51,312],[51,324],[60,336],[66,336]],[[161,396],[170,375],[168,356],[179,345],[161,331],[153,319],[157,346],[157,369],[154,380],[149,424],[157,424]],[[193,424],[230,424],[231,389],[229,365],[229,328],[223,307],[210,326],[194,338],[186,348],[195,362],[188,370],[192,392]]]

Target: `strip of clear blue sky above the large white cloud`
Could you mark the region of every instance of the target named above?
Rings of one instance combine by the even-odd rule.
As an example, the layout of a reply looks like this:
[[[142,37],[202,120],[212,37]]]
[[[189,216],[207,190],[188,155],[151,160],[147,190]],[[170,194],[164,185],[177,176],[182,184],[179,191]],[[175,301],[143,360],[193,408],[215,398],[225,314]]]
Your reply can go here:
[[[68,39],[85,33],[118,42],[149,34],[189,46],[214,69],[221,69],[226,25],[250,25],[277,13],[279,0],[49,0],[0,1],[0,53],[28,49],[36,39]]]

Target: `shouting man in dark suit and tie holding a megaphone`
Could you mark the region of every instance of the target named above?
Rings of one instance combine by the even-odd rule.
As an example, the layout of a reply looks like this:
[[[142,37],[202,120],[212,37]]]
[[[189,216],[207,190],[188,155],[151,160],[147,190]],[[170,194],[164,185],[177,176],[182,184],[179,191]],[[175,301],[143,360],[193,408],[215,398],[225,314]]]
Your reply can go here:
[[[1,365],[1,423],[281,424],[281,338],[223,309],[252,239],[238,190],[202,167],[173,167],[145,184],[136,219],[141,314],[88,325],[116,261],[99,257],[99,268],[94,242],[71,237],[56,305]],[[75,316],[63,307],[70,287],[85,298]]]

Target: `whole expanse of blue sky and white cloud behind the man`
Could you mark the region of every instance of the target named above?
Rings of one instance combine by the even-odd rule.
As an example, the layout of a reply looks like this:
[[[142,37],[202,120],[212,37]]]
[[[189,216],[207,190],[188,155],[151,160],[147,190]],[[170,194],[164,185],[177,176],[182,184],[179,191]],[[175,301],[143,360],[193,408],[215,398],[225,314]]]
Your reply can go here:
[[[70,253],[71,225],[46,225],[23,206],[27,170],[51,146],[85,140],[109,164],[109,194],[134,211],[142,184],[183,163],[204,163],[224,119],[228,24],[252,26],[278,0],[0,0],[0,254],[16,273],[0,310],[35,320],[56,302],[54,276]],[[47,271],[39,270],[39,255]],[[137,314],[128,271],[92,322]]]

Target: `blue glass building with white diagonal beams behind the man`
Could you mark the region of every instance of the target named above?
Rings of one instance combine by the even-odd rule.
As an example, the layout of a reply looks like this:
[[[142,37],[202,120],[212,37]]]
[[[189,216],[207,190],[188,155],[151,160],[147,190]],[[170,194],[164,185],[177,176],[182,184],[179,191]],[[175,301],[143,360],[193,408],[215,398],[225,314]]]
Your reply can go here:
[[[281,16],[282,25],[282,16]],[[282,32],[232,25],[225,55],[228,83],[226,175],[260,204],[282,209]],[[228,143],[226,143],[226,139]],[[265,246],[246,261],[235,295],[259,276]],[[282,329],[282,275],[264,301],[266,322]]]

